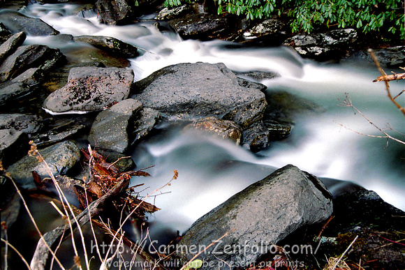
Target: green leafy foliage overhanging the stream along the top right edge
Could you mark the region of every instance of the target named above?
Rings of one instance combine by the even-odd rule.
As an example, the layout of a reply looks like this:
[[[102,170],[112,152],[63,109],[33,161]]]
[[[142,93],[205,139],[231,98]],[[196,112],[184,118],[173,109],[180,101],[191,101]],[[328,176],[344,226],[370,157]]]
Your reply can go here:
[[[181,1],[165,0],[165,6],[179,6]],[[311,32],[318,25],[339,28],[355,27],[364,33],[388,31],[404,39],[402,0],[214,0],[217,12],[246,15],[248,20],[288,14],[293,32]]]

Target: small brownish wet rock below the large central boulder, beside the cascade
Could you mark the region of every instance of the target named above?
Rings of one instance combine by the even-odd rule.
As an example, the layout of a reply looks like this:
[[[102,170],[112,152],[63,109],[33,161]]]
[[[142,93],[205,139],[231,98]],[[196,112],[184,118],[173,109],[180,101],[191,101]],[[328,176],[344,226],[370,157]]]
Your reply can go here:
[[[242,138],[242,128],[234,121],[221,120],[216,117],[206,117],[184,127],[186,130],[196,128],[205,130],[208,133],[219,135],[223,139],[231,140],[240,144]]]

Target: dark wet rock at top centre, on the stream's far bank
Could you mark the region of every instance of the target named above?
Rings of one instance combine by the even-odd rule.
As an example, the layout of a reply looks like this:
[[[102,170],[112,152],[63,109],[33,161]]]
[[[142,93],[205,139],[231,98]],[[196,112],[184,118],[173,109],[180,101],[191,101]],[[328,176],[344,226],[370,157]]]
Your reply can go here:
[[[206,39],[215,31],[226,28],[223,15],[189,14],[168,22],[182,38]]]

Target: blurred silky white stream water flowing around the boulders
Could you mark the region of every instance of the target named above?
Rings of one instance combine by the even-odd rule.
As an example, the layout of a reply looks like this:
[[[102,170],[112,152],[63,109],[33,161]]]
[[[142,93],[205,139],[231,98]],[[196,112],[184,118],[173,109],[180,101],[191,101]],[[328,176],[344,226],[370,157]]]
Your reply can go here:
[[[129,59],[135,80],[174,63],[223,62],[236,72],[279,73],[280,77],[261,82],[267,85],[267,91],[288,91],[325,109],[322,114],[297,117],[288,138],[272,142],[258,154],[214,137],[159,126],[159,135],[142,142],[133,153],[138,168],[155,165],[148,170],[151,178],[134,179],[134,182],[145,182],[148,187],[142,195],[168,183],[173,170],[179,172],[178,179],[170,186],[149,197],[149,202],[162,209],[149,217],[151,225],[159,224],[151,226],[151,234],[184,232],[194,220],[231,195],[287,164],[317,177],[353,181],[375,190],[385,201],[405,210],[404,145],[392,141],[387,145],[383,138],[359,135],[382,134],[353,109],[339,106],[339,100],[344,100],[348,93],[353,105],[377,126],[388,128],[389,123],[405,133],[404,116],[388,100],[385,85],[372,82],[380,75],[372,63],[362,60],[317,63],[302,59],[288,47],[182,40],[169,27],[159,31],[152,20],[128,26],[106,26],[99,24],[91,11],[78,16],[75,15],[77,10],[80,6],[73,4],[34,3],[23,12],[40,17],[61,33],[112,36],[142,48],[139,57]],[[32,43],[59,47],[68,58],[75,48],[82,46],[61,43],[52,36],[28,37],[26,44]],[[390,82],[390,87],[396,94],[404,89],[404,83]],[[404,99],[404,96],[399,98],[399,103],[404,104]],[[404,140],[403,135],[392,134]]]

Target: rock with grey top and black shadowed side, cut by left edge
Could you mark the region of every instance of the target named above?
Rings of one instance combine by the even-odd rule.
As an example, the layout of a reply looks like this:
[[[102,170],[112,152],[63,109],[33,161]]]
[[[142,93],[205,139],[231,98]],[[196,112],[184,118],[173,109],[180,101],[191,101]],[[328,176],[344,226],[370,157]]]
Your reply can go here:
[[[29,150],[29,139],[26,133],[14,128],[0,130],[0,160],[4,167],[22,158]]]

